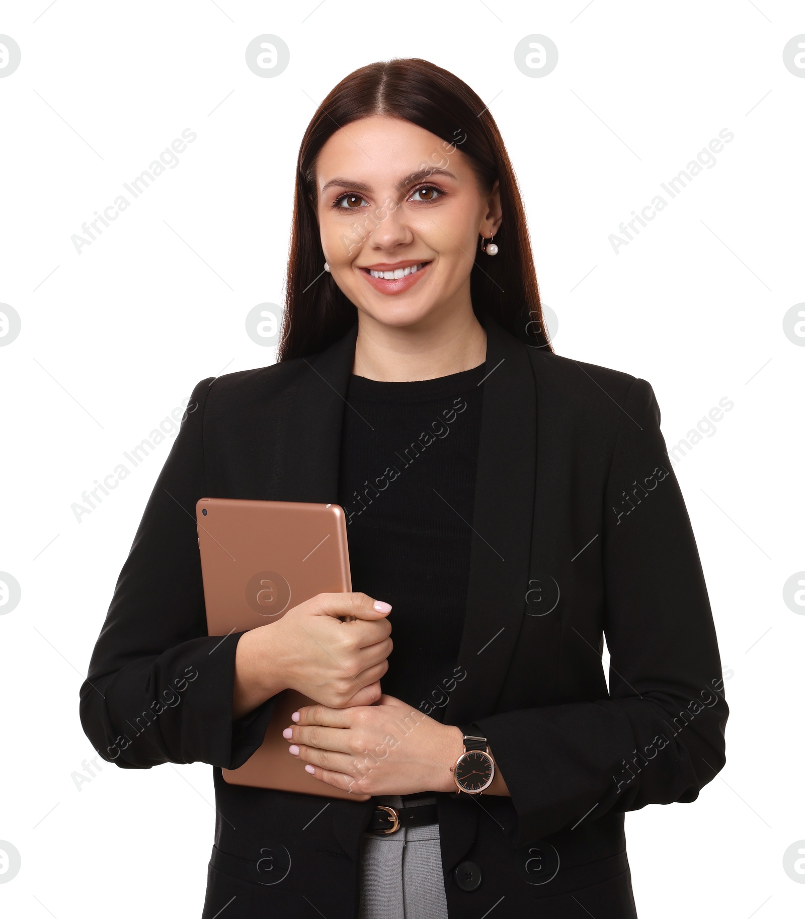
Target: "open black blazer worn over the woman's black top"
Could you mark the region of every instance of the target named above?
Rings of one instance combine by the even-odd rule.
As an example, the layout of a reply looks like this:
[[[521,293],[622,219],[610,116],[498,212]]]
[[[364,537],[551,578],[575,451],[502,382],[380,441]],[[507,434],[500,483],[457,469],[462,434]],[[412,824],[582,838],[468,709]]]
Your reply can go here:
[[[707,588],[651,386],[482,322],[466,676],[434,699],[448,696],[446,723],[489,738],[511,799],[439,794],[449,915],[500,903],[501,915],[624,919],[635,915],[624,811],[695,800],[724,765]],[[207,636],[194,513],[205,496],[336,501],[356,335],[198,383],[81,689],[104,759],[215,767],[203,919],[357,915],[371,803],[323,810],[326,799],[221,778],[261,743],[272,700],[232,722],[240,636]],[[481,875],[472,891],[456,879],[466,861]]]

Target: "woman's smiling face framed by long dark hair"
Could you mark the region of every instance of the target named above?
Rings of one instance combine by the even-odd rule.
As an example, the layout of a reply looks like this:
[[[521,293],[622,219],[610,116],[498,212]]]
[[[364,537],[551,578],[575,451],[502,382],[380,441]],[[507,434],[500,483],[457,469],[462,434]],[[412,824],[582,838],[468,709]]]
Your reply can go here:
[[[471,313],[478,237],[497,232],[500,197],[458,147],[410,121],[359,119],[324,144],[316,187],[324,257],[364,322]]]

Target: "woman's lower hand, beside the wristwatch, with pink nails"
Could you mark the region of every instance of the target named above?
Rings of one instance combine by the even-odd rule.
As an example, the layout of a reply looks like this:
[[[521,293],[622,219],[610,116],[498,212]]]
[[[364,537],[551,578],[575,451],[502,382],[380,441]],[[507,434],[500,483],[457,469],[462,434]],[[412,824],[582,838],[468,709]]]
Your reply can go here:
[[[381,696],[375,705],[350,709],[311,705],[298,714],[283,732],[290,754],[336,789],[367,795],[456,790],[450,767],[464,749],[460,729],[399,698]]]

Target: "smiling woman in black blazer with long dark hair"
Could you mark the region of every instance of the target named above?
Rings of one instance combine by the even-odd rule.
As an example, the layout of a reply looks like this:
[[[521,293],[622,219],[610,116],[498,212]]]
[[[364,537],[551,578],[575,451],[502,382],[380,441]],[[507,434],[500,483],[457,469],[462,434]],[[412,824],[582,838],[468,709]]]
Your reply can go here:
[[[728,715],[651,386],[552,353],[500,134],[431,63],[327,96],[291,238],[278,364],[198,383],[86,733],[119,766],[215,766],[205,919],[635,916],[624,812],[695,800]],[[207,637],[203,496],[339,503],[360,593]],[[222,781],[287,687],[321,703],[289,755],[371,800]]]

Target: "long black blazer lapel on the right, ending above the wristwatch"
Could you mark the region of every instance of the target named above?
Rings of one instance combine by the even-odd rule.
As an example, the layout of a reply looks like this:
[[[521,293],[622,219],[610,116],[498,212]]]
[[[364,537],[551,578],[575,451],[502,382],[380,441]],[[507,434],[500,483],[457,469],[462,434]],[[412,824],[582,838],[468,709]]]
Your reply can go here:
[[[527,346],[482,318],[487,333],[470,583],[459,648],[466,677],[444,721],[493,713],[526,606],[537,464],[537,393]]]

